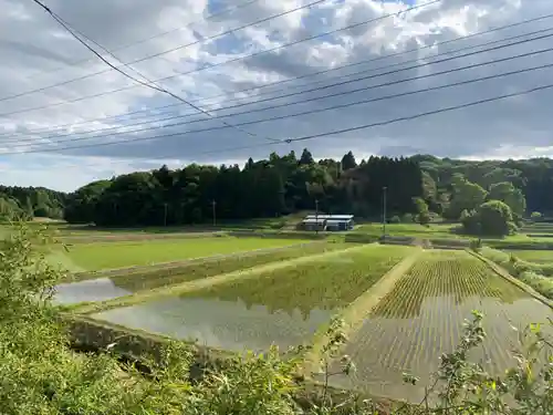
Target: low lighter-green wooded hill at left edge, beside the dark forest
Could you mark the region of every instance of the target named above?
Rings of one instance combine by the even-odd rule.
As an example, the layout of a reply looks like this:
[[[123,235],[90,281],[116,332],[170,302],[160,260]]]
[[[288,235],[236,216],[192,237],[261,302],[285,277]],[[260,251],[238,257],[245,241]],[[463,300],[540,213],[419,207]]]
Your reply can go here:
[[[44,187],[0,186],[0,220],[63,218],[67,195]]]

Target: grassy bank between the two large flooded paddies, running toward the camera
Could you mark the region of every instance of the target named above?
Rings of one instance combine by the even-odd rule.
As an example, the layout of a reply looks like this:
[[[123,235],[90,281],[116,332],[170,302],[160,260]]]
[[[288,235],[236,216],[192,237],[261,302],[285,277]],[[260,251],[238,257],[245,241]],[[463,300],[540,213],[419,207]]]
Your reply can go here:
[[[387,271],[373,287],[357,297],[349,305],[338,311],[334,318],[344,321],[343,333],[348,338],[357,331],[365,318],[375,309],[376,305],[384,299],[395,287],[401,277],[417,262],[422,255],[421,248],[415,248],[417,251],[404,258]],[[323,347],[328,343],[327,334],[328,326],[322,328],[315,334],[312,343],[312,349],[306,353],[304,359],[304,373],[309,375],[316,371],[319,361],[322,357]]]

